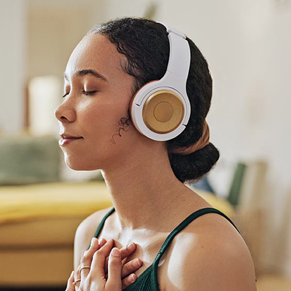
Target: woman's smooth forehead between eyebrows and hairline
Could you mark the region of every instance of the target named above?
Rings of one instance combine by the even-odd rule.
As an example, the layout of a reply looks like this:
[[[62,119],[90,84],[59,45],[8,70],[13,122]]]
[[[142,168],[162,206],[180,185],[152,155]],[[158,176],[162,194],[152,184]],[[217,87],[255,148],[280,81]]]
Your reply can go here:
[[[78,71],[93,69],[110,80],[126,74],[121,63],[126,61],[115,45],[104,35],[90,33],[73,50],[65,69],[65,76],[72,77]]]

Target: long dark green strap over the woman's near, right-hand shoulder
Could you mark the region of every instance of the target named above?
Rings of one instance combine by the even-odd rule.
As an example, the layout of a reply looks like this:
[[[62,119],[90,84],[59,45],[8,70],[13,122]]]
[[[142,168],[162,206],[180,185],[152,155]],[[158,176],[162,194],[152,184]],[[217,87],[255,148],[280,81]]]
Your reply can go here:
[[[175,238],[175,236],[181,231],[183,230],[186,226],[188,226],[192,221],[194,221],[196,218],[198,218],[201,215],[207,214],[207,213],[217,213],[223,217],[225,217],[235,228],[236,230],[239,232],[239,230],[237,229],[237,227],[234,225],[234,223],[220,210],[217,210],[215,208],[202,208],[199,209],[197,211],[195,211],[194,213],[190,214],[185,220],[183,220],[166,238],[166,240],[163,242],[162,247],[156,257],[156,259],[153,262],[153,268],[157,270],[160,259],[162,258],[163,253],[166,251],[167,247],[170,245],[170,243],[173,241],[173,239]],[[155,274],[157,274],[157,272],[155,272]],[[158,279],[158,278],[156,278]]]

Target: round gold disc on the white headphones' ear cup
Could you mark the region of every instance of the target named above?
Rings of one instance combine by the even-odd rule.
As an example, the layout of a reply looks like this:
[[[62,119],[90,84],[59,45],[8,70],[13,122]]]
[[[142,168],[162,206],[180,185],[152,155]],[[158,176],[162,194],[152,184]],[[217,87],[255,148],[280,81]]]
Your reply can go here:
[[[161,90],[147,98],[143,108],[146,126],[156,133],[168,133],[176,129],[184,116],[181,98],[169,90]]]

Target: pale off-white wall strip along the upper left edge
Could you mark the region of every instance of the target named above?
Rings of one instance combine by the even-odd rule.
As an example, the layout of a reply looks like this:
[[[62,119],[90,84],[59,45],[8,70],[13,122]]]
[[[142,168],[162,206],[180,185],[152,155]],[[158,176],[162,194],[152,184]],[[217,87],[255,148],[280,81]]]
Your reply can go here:
[[[0,0],[0,133],[14,135],[24,125],[26,2]]]

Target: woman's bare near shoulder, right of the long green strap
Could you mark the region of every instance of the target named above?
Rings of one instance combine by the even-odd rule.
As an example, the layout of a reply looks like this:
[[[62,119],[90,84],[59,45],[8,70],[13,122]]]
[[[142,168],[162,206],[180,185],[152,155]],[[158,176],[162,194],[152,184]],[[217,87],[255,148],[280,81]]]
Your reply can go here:
[[[194,220],[174,239],[159,274],[166,291],[256,291],[251,255],[239,232],[214,213]]]

